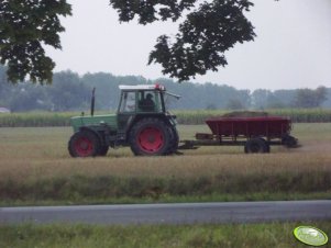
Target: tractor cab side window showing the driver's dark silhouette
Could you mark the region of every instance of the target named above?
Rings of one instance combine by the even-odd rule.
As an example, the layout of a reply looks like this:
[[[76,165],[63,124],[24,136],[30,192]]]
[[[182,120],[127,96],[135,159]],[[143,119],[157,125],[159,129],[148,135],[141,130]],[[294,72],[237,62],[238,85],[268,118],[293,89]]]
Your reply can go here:
[[[139,92],[140,112],[162,112],[162,102],[158,91],[141,90]]]

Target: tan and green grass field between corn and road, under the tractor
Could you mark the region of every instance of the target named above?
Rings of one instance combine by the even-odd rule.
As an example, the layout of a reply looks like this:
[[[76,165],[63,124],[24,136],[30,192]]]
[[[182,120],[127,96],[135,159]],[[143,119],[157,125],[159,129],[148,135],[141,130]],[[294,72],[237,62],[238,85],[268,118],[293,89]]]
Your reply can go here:
[[[208,132],[180,125],[180,138]],[[201,147],[181,156],[133,157],[129,148],[104,158],[74,159],[69,127],[0,128],[0,204],[331,199],[331,125],[296,124],[302,147]]]

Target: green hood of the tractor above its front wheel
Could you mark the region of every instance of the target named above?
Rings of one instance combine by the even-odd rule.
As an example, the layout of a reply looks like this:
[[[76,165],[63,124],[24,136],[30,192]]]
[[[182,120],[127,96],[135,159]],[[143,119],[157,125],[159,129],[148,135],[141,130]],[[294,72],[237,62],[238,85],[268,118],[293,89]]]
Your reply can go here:
[[[70,119],[70,124],[76,133],[82,126],[109,125],[113,129],[118,129],[118,117],[115,114],[93,115],[93,116],[75,116]]]

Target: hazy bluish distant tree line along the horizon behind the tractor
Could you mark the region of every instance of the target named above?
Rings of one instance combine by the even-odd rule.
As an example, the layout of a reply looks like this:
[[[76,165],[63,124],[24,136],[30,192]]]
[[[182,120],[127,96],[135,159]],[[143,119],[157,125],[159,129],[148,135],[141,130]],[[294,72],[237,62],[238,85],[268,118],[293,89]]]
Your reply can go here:
[[[97,110],[115,110],[119,102],[119,84],[162,83],[168,91],[181,95],[177,101],[168,98],[170,109],[283,109],[331,108],[331,88],[296,90],[238,90],[216,83],[177,83],[169,79],[147,80],[135,76],[113,76],[98,72],[79,76],[73,71],[56,72],[53,84],[40,86],[29,82],[9,83],[5,68],[0,67],[0,106],[12,112],[24,111],[85,111],[89,109],[90,95],[96,90]]]

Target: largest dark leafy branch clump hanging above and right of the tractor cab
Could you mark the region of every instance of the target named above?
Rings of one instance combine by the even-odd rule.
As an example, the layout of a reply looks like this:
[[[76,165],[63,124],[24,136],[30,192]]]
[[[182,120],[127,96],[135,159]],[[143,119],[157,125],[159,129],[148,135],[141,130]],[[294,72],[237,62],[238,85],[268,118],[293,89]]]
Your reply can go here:
[[[157,38],[148,64],[161,64],[163,74],[179,81],[208,70],[218,71],[219,66],[228,64],[224,55],[228,49],[236,43],[253,41],[253,25],[243,14],[251,5],[242,0],[203,2],[179,25],[175,42],[166,35]]]

